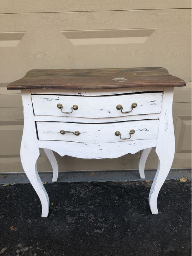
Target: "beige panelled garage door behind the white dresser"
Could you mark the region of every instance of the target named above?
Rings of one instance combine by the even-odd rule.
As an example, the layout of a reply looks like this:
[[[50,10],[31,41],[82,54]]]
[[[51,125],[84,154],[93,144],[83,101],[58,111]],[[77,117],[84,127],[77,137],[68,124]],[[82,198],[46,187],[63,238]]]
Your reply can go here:
[[[65,4],[64,4],[65,2]],[[0,3],[0,172],[22,172],[20,91],[6,85],[30,69],[161,66],[186,81],[174,95],[172,168],[191,166],[190,1],[20,0]],[[57,154],[56,154],[57,155]],[[57,155],[60,171],[137,169],[139,154],[113,160]],[[44,152],[39,171],[51,171]],[[147,168],[157,167],[151,152]]]

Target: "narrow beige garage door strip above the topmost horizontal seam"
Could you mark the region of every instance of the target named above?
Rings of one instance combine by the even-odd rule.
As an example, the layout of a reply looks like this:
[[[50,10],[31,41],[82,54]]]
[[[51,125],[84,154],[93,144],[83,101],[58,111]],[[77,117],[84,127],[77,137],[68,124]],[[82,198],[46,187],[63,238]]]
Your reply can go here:
[[[2,1],[0,13],[45,13],[69,11],[112,11],[140,9],[190,8],[190,0],[6,0]]]

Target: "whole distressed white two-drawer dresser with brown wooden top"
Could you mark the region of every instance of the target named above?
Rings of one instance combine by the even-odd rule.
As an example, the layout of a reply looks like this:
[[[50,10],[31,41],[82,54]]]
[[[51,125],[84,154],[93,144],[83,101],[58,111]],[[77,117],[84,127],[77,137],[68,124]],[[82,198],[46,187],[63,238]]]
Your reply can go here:
[[[149,195],[157,214],[157,197],[175,152],[172,100],[185,82],[161,67],[122,69],[35,69],[7,89],[21,89],[24,131],[23,169],[49,212],[49,198],[37,172],[43,148],[57,181],[53,151],[77,158],[118,158],[141,151],[139,173],[152,147],[159,158]],[[53,150],[53,151],[52,151]]]

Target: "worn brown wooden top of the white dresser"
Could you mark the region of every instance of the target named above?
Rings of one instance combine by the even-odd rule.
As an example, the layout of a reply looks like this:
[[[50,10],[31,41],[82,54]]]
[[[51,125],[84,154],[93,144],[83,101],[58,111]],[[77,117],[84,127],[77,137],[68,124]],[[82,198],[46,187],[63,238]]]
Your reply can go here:
[[[185,86],[162,67],[122,69],[33,69],[7,85],[18,89],[117,89],[128,87]]]

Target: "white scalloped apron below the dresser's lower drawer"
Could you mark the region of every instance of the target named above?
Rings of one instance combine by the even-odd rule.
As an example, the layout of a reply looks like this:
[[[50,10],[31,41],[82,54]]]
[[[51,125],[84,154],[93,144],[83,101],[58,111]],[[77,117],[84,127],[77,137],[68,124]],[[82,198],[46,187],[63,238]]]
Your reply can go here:
[[[128,153],[156,147],[157,139],[120,141],[114,143],[79,143],[68,141],[38,141],[39,148],[49,148],[60,156],[73,156],[84,159],[118,158]]]

